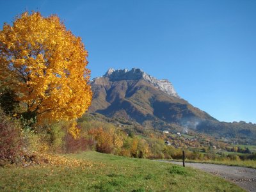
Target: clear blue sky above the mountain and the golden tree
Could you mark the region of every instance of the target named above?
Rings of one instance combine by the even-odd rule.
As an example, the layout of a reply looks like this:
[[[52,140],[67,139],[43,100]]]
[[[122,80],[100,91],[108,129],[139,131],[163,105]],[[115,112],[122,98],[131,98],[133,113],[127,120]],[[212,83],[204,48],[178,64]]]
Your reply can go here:
[[[218,120],[256,123],[256,1],[0,0],[1,28],[25,10],[81,36],[92,77],[141,68]]]

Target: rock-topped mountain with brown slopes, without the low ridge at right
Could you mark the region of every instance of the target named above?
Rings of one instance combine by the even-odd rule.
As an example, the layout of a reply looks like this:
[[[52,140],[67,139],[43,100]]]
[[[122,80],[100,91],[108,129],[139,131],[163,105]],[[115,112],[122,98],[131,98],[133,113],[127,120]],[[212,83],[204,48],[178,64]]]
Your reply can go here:
[[[180,125],[184,120],[214,120],[204,111],[180,99],[170,82],[164,82],[169,86],[163,90],[162,82],[140,69],[109,70],[105,76],[93,79],[91,83],[94,95],[90,112],[124,116],[140,124],[147,120],[163,120]]]

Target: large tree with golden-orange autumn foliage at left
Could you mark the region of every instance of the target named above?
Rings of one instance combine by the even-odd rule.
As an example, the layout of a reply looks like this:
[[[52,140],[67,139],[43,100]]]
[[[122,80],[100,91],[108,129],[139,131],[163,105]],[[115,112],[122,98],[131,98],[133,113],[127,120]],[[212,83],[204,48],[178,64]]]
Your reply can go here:
[[[56,15],[25,12],[0,31],[0,84],[15,92],[27,115],[74,119],[92,100],[87,56],[81,38]]]

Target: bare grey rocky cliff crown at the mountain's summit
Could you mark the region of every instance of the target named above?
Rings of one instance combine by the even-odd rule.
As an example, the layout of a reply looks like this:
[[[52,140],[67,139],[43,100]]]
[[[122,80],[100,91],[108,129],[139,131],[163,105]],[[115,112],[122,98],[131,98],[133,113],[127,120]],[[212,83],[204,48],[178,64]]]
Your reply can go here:
[[[108,77],[111,81],[121,81],[121,80],[141,80],[147,81],[148,83],[152,84],[154,87],[158,88],[159,90],[168,93],[173,97],[178,97],[179,95],[173,88],[172,83],[167,79],[158,80],[155,77],[148,75],[147,73],[143,72],[140,68],[132,68],[131,70],[127,69],[118,69],[115,70],[113,68],[109,68],[106,72],[104,77]]]

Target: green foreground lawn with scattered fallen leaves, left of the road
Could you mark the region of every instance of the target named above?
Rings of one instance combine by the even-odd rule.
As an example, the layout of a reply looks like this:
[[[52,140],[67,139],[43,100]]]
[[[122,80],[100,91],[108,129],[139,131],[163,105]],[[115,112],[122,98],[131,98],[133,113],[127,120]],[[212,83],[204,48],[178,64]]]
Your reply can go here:
[[[0,191],[243,191],[193,168],[83,152],[66,157],[91,166],[0,168]]]

